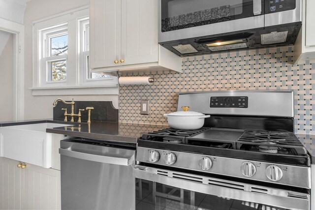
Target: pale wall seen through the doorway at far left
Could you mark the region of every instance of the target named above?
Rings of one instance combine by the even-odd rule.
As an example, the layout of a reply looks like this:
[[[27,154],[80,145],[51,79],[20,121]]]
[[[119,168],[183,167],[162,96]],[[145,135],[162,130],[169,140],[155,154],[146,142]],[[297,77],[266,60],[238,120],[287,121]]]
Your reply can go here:
[[[0,121],[13,120],[13,34],[6,35],[8,40],[0,56]]]

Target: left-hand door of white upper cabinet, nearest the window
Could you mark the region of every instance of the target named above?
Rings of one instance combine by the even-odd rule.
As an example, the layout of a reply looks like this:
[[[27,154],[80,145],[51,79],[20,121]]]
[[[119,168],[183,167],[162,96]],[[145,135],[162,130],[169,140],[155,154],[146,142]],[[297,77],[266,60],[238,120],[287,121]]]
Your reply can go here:
[[[120,65],[121,0],[90,1],[90,67]]]

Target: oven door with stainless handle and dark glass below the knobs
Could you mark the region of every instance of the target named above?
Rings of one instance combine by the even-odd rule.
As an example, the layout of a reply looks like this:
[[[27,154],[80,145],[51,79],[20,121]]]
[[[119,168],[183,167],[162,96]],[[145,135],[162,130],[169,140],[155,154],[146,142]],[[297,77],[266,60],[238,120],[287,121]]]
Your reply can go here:
[[[310,210],[310,195],[137,165],[136,210]]]

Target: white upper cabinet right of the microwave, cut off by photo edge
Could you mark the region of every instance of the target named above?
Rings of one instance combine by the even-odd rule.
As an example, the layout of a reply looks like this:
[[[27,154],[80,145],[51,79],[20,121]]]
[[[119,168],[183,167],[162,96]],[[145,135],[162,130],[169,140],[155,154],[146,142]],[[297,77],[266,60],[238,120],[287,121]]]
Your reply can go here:
[[[303,22],[294,44],[294,64],[315,60],[315,0],[303,0]]]

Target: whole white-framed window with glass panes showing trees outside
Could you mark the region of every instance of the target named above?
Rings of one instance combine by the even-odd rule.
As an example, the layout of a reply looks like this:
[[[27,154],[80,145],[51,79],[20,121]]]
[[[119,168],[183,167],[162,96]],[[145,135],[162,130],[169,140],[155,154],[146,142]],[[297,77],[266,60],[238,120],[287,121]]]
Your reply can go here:
[[[117,87],[89,68],[89,26],[88,7],[33,22],[32,90]]]

